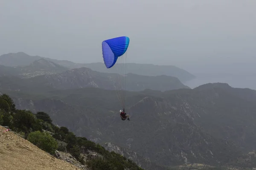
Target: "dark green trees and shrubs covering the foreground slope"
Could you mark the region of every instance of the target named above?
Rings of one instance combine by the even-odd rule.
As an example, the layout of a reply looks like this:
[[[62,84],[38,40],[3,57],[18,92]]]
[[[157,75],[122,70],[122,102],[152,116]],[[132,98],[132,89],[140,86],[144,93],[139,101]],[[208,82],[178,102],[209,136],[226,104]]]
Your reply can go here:
[[[76,165],[84,170],[124,170],[127,168],[143,170],[131,160],[114,152],[108,152],[101,145],[91,142],[85,137],[76,136],[67,127],[58,127],[52,124],[52,119],[47,113],[37,112],[33,114],[28,110],[16,109],[14,102],[6,94],[0,96],[0,125],[8,127],[52,156],[58,158],[61,156],[61,152],[70,153],[81,164]],[[8,131],[4,133],[8,133]],[[16,144],[21,143],[16,141]],[[4,153],[5,151],[1,151],[1,154]],[[41,155],[42,158],[45,156],[47,155]],[[12,162],[7,161],[13,160],[1,160],[6,166],[12,164]],[[26,161],[26,163],[33,164],[32,159],[31,162]],[[18,166],[24,167],[23,164]],[[37,167],[37,165],[34,166],[34,168]],[[12,166],[9,168],[15,169]]]

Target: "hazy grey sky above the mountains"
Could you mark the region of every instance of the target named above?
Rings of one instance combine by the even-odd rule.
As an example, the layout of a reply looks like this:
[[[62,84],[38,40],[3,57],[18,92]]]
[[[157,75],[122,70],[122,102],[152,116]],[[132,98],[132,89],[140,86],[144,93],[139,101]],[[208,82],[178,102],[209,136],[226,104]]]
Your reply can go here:
[[[119,36],[127,62],[250,72],[256,0],[0,0],[0,55],[102,62],[101,42]]]

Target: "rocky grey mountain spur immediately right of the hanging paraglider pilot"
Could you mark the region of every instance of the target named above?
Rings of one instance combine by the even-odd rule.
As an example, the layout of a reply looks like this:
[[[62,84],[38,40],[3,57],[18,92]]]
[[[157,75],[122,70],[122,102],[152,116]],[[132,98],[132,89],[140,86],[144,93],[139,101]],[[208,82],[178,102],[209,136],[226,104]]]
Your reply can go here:
[[[117,127],[110,127],[110,131],[122,129],[121,132],[116,131],[116,136],[122,138],[112,137],[113,142],[123,147],[129,146],[137,153],[167,166],[189,162],[224,164],[229,162],[230,157],[239,155],[238,148],[232,143],[215,139],[196,125],[193,119],[197,115],[189,103],[177,98],[175,103],[172,102],[146,97],[132,106],[131,125],[125,124],[123,127],[122,122],[116,121]],[[135,132],[136,135],[131,137]]]

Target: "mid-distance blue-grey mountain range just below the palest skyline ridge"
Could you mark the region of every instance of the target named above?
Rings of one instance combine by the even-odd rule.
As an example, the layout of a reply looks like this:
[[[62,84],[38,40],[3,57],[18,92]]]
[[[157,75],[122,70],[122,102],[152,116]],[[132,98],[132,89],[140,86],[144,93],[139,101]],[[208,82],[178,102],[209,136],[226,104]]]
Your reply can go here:
[[[26,90],[35,93],[38,89],[70,89],[96,87],[108,90],[142,91],[153,89],[166,91],[189,88],[179,79],[170,76],[143,76],[128,73],[124,76],[101,73],[90,68],[68,69],[46,59],[35,60],[28,66],[0,66],[1,88],[11,91]],[[25,79],[26,78],[26,79]],[[124,86],[124,81],[126,85]],[[7,87],[8,86],[8,87]],[[33,90],[35,89],[35,91]]]

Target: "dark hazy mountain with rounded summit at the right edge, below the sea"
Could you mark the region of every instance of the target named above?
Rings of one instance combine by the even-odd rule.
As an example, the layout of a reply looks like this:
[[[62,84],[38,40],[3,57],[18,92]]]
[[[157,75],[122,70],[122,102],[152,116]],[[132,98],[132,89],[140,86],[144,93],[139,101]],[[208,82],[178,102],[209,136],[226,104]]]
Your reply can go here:
[[[242,91],[244,93],[241,93]],[[212,95],[209,95],[209,92]],[[201,102],[194,105],[194,110],[201,116],[201,120],[195,119],[199,125],[217,138],[233,140],[246,152],[256,149],[253,142],[256,140],[255,100],[245,97],[247,92],[248,89],[231,87],[201,90],[197,93],[201,96]],[[250,93],[255,94],[255,91],[250,90]],[[186,99],[192,102],[192,99]],[[206,108],[208,113],[204,111]]]

